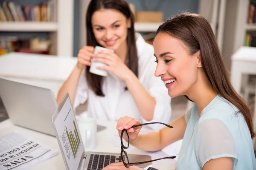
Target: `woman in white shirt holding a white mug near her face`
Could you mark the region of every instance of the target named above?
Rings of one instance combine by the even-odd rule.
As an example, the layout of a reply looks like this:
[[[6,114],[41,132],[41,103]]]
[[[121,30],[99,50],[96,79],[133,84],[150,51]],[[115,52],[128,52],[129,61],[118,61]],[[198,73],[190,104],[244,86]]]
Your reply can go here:
[[[128,115],[143,122],[169,122],[171,98],[154,77],[154,48],[134,31],[134,15],[126,0],[91,0],[86,14],[87,45],[61,87],[57,102],[68,92],[73,107],[87,101],[87,115],[118,120]],[[113,50],[94,55],[95,46]],[[91,60],[107,66],[106,77],[90,72]],[[158,128],[158,127],[154,127]]]

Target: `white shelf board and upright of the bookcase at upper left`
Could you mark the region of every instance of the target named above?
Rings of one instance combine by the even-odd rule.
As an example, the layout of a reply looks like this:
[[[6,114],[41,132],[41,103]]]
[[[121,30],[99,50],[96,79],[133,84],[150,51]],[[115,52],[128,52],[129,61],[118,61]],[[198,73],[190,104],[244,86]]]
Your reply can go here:
[[[50,32],[52,52],[73,56],[74,0],[56,0],[57,22],[0,22],[0,31]]]

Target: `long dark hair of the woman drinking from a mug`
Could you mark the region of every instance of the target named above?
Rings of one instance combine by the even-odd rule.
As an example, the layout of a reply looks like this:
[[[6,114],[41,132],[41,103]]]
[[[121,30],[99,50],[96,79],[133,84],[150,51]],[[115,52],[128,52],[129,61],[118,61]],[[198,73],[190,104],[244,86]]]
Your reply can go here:
[[[100,9],[115,9],[122,14],[125,15],[127,19],[131,20],[131,28],[128,28],[127,34],[127,66],[128,68],[134,72],[134,74],[138,77],[138,56],[137,56],[137,48],[136,48],[136,40],[135,40],[135,31],[134,31],[134,14],[130,10],[129,4],[126,0],[91,0],[87,9],[86,14],[86,28],[87,28],[87,45],[95,47],[99,45],[96,41],[95,36],[93,34],[93,28],[91,23],[92,15],[95,11]],[[99,45],[100,46],[100,45]],[[105,96],[102,92],[102,76],[92,74],[89,72],[90,67],[86,68],[86,79],[89,88],[91,88],[94,93],[98,96]]]

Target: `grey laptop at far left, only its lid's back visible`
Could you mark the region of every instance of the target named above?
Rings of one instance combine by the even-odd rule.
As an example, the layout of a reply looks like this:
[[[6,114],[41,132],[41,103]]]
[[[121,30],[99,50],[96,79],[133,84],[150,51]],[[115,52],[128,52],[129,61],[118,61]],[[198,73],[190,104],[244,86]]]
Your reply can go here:
[[[13,124],[55,136],[51,120],[58,104],[50,89],[0,78],[0,97]]]

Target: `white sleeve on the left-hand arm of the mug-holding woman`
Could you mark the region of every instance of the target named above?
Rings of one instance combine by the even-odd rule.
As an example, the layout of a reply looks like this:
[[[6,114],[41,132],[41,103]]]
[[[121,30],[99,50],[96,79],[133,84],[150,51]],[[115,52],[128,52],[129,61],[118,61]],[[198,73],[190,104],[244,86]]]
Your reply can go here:
[[[76,108],[79,105],[85,103],[87,98],[88,98],[88,85],[85,79],[85,71],[83,70],[76,88],[76,96],[75,96],[73,108]]]

